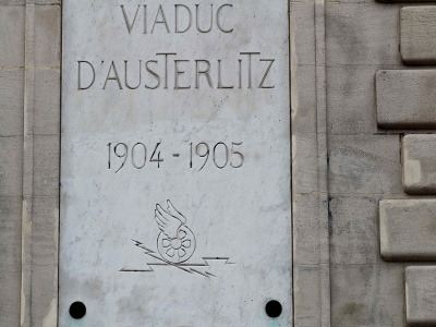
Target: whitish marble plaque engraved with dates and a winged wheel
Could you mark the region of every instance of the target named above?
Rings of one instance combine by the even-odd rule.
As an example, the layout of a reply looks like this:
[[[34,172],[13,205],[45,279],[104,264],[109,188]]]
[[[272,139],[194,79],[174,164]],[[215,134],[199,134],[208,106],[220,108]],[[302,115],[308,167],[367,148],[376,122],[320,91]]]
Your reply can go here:
[[[62,52],[60,326],[291,326],[288,1],[64,0]]]

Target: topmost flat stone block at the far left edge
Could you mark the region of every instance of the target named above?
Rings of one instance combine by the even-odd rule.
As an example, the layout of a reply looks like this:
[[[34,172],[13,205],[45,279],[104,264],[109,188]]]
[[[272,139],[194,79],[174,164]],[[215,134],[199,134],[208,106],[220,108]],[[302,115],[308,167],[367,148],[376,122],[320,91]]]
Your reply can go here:
[[[4,4],[20,1],[7,1]],[[0,4],[3,2],[0,1]],[[24,66],[24,20],[22,5],[2,5],[0,10],[0,66]]]

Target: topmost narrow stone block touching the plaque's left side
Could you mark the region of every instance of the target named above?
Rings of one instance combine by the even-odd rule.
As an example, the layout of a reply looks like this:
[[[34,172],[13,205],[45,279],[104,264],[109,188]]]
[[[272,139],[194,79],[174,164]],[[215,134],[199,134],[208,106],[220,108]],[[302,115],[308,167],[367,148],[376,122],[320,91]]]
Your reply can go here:
[[[59,66],[61,59],[60,5],[37,5],[35,19],[35,64]]]

